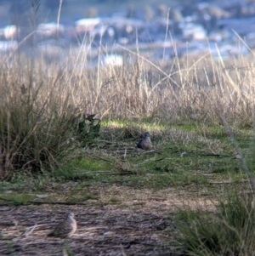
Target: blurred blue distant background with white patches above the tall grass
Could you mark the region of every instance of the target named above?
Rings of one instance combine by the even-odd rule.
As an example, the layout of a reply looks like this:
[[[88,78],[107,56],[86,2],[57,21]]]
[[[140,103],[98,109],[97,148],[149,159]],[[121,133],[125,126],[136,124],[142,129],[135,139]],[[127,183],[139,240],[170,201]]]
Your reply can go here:
[[[105,63],[120,65],[122,48],[139,44],[150,60],[208,51],[229,58],[254,48],[254,14],[253,0],[0,0],[0,52],[19,48],[50,63],[82,46],[93,63],[104,48]]]

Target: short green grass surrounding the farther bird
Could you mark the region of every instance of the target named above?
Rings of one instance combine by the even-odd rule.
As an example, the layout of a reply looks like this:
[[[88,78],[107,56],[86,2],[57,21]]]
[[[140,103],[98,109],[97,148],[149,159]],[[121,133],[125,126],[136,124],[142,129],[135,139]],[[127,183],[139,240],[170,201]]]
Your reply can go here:
[[[235,158],[235,149],[221,126],[206,127],[203,124],[199,127],[197,123],[190,122],[183,126],[161,124],[154,127],[150,122],[140,126],[134,121],[109,121],[103,122],[102,127],[98,150],[85,150],[83,156],[72,160],[65,168],[39,176],[36,182],[26,175],[23,178],[17,175],[12,183],[17,189],[22,187],[24,181],[26,186],[31,182],[31,186],[37,184],[37,188],[42,189],[43,184],[48,185],[50,179],[56,182],[74,180],[87,186],[107,183],[161,189],[170,185],[207,185],[208,180],[228,179],[229,176],[234,180],[245,178],[241,161]],[[115,134],[116,127],[126,128],[129,134],[137,134],[139,129],[150,130],[156,151],[150,154],[137,151],[134,148],[137,138],[130,135],[131,138],[127,139],[124,134],[118,137]],[[249,152],[251,131],[243,128],[236,131],[235,135],[241,149]],[[107,145],[105,141],[111,144]],[[100,149],[101,145],[104,146],[103,150]],[[125,149],[130,146],[133,150],[127,151],[124,162],[118,153],[114,155],[120,147]],[[15,185],[8,186],[3,181],[2,188],[11,190]]]

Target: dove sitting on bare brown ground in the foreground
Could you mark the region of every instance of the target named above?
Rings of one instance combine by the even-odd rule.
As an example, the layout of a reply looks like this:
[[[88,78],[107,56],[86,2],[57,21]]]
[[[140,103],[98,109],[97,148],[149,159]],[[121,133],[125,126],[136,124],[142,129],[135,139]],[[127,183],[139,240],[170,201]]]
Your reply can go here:
[[[60,221],[54,227],[54,230],[48,236],[57,236],[61,238],[71,237],[77,230],[77,221],[74,219],[74,213],[68,213],[64,220]]]

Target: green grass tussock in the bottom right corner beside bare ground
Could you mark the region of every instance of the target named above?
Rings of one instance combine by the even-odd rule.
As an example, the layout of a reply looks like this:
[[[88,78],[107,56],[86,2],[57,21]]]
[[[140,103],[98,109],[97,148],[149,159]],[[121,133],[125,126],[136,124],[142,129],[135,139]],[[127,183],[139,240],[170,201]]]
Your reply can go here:
[[[185,210],[176,216],[176,236],[192,255],[252,255],[255,235],[253,196],[231,187],[215,204],[217,213]]]

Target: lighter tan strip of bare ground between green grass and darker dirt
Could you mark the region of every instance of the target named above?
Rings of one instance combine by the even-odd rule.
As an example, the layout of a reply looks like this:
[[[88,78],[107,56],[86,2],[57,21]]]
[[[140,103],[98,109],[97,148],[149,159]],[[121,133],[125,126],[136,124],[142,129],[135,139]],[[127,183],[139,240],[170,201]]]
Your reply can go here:
[[[101,202],[109,202],[111,196],[122,207],[139,213],[167,214],[176,213],[179,209],[184,208],[214,211],[216,203],[214,200],[198,195],[197,192],[175,188],[156,191],[112,185],[100,189]]]

